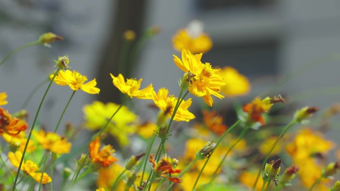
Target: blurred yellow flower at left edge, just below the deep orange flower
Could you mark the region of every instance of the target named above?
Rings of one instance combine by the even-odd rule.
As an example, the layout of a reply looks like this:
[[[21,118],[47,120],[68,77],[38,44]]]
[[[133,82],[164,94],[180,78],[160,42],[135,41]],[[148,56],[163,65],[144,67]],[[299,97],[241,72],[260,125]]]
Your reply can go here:
[[[8,142],[11,146],[16,147],[19,149],[19,151],[23,152],[25,148],[25,144],[27,141],[27,137],[25,134],[25,131],[20,131],[16,135],[9,135],[7,133],[2,134],[3,139]],[[26,149],[27,153],[30,153],[36,149],[36,146],[33,141],[28,142],[28,146]]]

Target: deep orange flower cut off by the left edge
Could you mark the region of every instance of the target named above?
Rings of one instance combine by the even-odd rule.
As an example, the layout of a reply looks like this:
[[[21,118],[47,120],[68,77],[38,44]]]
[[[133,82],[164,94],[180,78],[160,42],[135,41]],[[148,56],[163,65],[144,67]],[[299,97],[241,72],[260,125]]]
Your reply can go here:
[[[12,117],[8,111],[0,108],[0,134],[6,132],[16,135],[22,130],[26,130],[27,124],[19,118]]]

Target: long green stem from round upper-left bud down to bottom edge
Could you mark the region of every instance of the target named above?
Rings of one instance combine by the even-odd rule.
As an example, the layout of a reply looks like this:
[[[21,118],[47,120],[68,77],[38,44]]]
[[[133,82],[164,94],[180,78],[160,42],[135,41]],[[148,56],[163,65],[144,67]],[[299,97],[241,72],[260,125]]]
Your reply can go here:
[[[34,120],[33,120],[33,124],[32,124],[32,127],[31,127],[31,130],[29,131],[29,134],[28,134],[28,137],[27,137],[27,141],[26,141],[26,144],[25,144],[25,148],[24,148],[23,153],[22,153],[22,157],[21,157],[21,160],[20,160],[20,164],[19,164],[19,167],[18,167],[18,171],[17,171],[16,176],[15,176],[15,180],[14,180],[14,184],[13,184],[13,189],[12,189],[12,191],[15,190],[15,185],[16,185],[16,182],[17,182],[18,177],[19,177],[19,173],[20,173],[20,170],[21,170],[22,162],[23,162],[23,159],[24,159],[26,150],[27,150],[27,146],[28,146],[29,140],[30,140],[30,138],[31,138],[31,136],[32,136],[32,132],[33,132],[35,123],[37,122],[37,119],[38,119],[38,115],[39,115],[41,106],[42,106],[42,104],[44,103],[44,100],[45,100],[45,97],[46,97],[46,95],[47,95],[47,92],[48,92],[48,90],[50,89],[50,87],[51,87],[51,85],[52,85],[52,82],[53,82],[54,78],[56,77],[56,75],[58,74],[59,70],[60,70],[60,69],[58,68],[57,71],[54,73],[54,75],[53,75],[53,77],[52,77],[50,83],[48,84],[48,87],[47,87],[47,89],[46,89],[46,91],[45,91],[45,93],[44,93],[44,96],[43,96],[43,98],[41,99],[41,102],[40,102],[40,104],[39,104],[38,110],[37,110],[37,112],[36,112],[36,114],[35,114],[35,117],[34,117]]]

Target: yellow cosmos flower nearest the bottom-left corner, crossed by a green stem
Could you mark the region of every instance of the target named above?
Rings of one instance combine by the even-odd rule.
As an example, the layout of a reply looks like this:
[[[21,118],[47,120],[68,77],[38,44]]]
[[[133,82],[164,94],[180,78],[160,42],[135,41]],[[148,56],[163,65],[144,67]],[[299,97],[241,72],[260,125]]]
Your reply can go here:
[[[8,159],[10,163],[12,163],[12,165],[16,168],[19,168],[21,158],[22,153],[20,151],[16,151],[15,154],[13,152],[8,153]],[[23,161],[21,165],[21,170],[32,177],[38,183],[40,183],[41,175],[43,176],[42,184],[47,184],[52,181],[51,177],[48,176],[46,173],[37,173],[39,167],[33,161]]]

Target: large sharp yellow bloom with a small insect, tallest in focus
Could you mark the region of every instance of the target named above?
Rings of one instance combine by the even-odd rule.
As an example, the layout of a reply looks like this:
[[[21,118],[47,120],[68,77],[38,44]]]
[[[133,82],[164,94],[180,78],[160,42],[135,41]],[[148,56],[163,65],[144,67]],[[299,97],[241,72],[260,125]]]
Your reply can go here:
[[[203,100],[210,107],[214,103],[211,95],[214,95],[220,99],[224,98],[220,92],[221,86],[226,83],[223,78],[216,74],[217,69],[213,69],[209,63],[203,64],[201,62],[202,53],[192,55],[187,49],[182,50],[182,60],[173,55],[174,63],[184,72],[190,72],[192,83],[189,87],[190,93],[197,97],[203,97]]]

